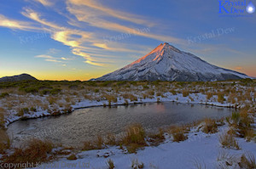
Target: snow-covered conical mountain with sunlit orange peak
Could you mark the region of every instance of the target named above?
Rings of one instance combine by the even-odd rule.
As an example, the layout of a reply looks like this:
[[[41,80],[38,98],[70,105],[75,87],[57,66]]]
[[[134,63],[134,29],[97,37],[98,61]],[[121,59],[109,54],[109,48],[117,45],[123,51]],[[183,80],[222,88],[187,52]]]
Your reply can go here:
[[[194,54],[160,44],[141,59],[115,70],[96,81],[222,81],[250,78],[249,76],[211,65]]]

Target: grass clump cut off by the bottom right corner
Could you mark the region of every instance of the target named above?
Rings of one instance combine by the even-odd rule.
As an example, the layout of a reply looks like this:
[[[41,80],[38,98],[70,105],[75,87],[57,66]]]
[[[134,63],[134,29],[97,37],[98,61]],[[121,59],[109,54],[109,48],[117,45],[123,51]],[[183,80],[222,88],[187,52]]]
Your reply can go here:
[[[241,161],[238,163],[241,168],[253,169],[256,168],[255,157],[252,153],[241,155]]]

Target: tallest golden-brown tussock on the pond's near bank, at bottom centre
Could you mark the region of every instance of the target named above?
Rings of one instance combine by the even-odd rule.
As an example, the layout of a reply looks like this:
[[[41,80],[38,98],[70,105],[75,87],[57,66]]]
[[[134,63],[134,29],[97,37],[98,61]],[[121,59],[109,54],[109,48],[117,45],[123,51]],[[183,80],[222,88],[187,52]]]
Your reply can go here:
[[[145,131],[141,124],[133,124],[126,129],[126,135],[121,139],[129,153],[136,153],[137,149],[147,146]]]

